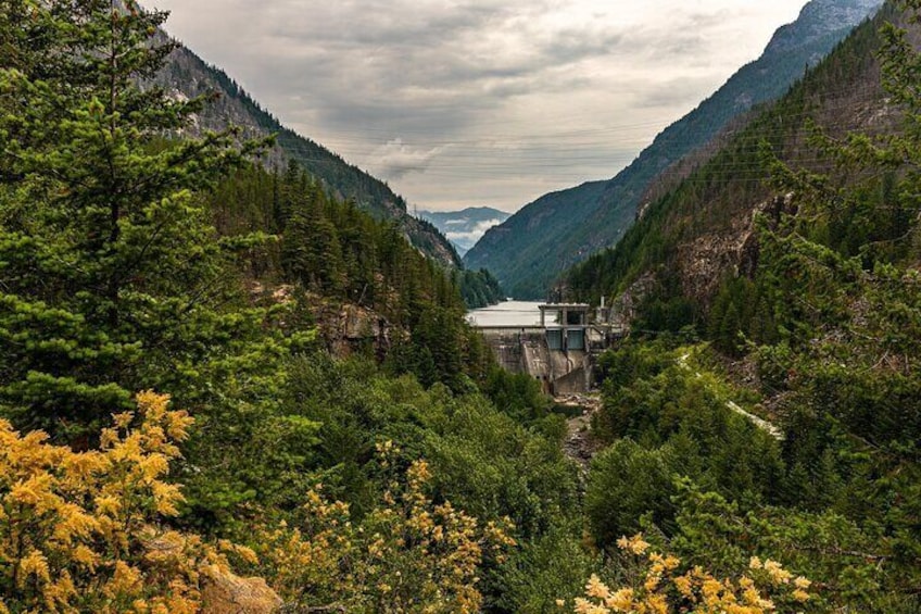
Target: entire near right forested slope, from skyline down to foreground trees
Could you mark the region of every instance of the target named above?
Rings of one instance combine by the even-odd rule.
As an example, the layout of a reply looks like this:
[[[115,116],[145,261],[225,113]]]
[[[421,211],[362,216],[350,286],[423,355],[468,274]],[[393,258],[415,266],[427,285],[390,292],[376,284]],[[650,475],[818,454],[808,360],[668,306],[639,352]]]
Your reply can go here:
[[[921,607],[919,16],[886,3],[569,275],[632,305],[593,423],[595,535],[642,510],[685,555],[797,565],[825,591],[810,611]]]

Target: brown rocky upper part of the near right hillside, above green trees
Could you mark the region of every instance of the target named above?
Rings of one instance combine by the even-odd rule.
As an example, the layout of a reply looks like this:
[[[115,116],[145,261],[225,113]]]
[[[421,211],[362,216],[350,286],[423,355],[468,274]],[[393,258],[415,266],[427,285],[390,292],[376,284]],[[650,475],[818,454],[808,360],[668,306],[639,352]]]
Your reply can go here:
[[[812,122],[836,137],[892,129],[895,114],[885,103],[874,59],[880,24],[891,18],[893,11],[884,9],[856,29],[709,161],[645,206],[615,248],[569,272],[570,290],[580,297],[610,295],[652,273],[669,300],[681,296],[706,305],[726,275],[752,271],[755,215],[778,218],[792,206],[788,198],[774,196],[766,148],[784,162],[820,172],[830,162],[810,147]]]

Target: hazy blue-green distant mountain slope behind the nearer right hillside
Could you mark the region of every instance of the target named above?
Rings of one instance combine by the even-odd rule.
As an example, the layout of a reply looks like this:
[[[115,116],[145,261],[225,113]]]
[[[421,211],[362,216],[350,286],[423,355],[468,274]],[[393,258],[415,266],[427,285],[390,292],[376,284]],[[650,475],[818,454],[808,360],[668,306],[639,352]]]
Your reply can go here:
[[[651,181],[710,141],[732,120],[783,95],[806,66],[816,65],[881,3],[813,0],[796,22],[777,32],[761,58],[666,128],[630,166],[607,181],[600,195],[593,183],[539,199],[488,234],[466,261],[493,271],[516,297],[545,293],[567,267],[617,242],[632,225]],[[544,230],[530,234],[538,220]],[[526,234],[519,235],[522,231]]]

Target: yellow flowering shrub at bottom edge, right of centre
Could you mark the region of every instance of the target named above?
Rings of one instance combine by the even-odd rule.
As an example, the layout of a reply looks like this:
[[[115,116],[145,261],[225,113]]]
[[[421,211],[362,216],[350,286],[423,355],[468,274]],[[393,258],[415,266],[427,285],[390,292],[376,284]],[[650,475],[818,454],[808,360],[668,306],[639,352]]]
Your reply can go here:
[[[611,590],[592,576],[585,597],[573,604],[577,614],[771,614],[783,611],[781,601],[802,606],[810,599],[811,582],[794,578],[775,561],[755,557],[749,575],[717,579],[701,567],[680,572],[680,560],[651,551],[642,535],[621,538],[617,546],[639,559],[631,586]]]

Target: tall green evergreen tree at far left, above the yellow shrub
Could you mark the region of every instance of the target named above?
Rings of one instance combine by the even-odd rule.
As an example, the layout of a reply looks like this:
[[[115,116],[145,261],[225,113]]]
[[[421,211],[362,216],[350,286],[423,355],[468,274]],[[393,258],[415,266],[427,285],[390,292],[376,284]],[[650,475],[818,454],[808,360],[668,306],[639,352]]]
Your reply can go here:
[[[251,147],[169,139],[205,100],[139,85],[174,48],[156,36],[165,13],[2,9],[0,402],[20,427],[80,436],[234,328],[210,309],[229,288],[190,190]]]

